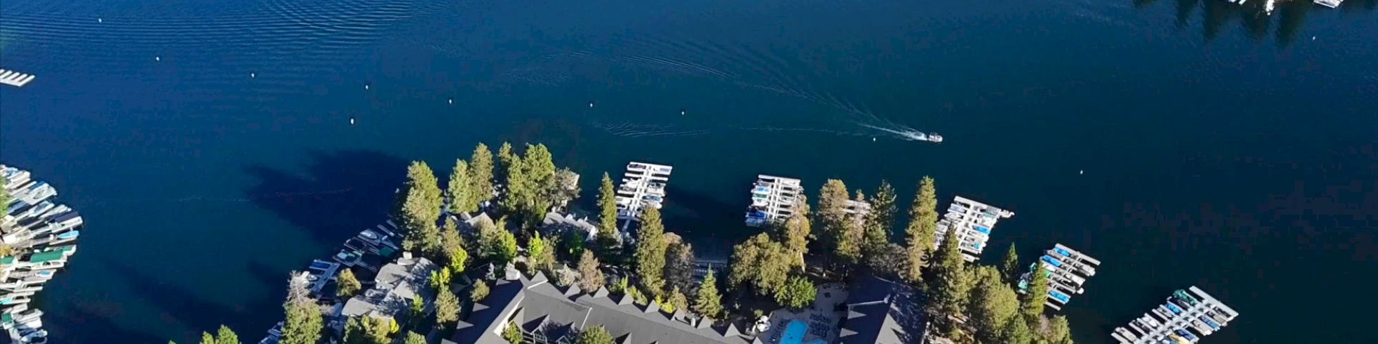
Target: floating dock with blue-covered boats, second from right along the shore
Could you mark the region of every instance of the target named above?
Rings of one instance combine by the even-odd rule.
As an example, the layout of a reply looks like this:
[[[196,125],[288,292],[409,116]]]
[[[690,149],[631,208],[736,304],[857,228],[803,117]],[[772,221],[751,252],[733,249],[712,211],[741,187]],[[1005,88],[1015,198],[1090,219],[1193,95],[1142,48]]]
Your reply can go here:
[[[1072,294],[1086,292],[1082,285],[1096,275],[1096,268],[1101,261],[1078,252],[1062,244],[1056,244],[1029,266],[1029,272],[1020,277],[1018,292],[1025,293],[1032,274],[1047,275],[1047,300],[1043,303],[1053,310],[1062,310],[1062,305],[1072,300]]]

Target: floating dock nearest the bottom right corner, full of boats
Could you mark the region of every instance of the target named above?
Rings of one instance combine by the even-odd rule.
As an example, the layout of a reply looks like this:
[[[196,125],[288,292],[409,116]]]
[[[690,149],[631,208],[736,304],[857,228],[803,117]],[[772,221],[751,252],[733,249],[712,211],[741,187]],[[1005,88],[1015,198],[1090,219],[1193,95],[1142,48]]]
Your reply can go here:
[[[1196,343],[1239,316],[1235,308],[1196,286],[1177,289],[1167,303],[1155,307],[1127,326],[1115,327],[1111,337],[1122,344]]]

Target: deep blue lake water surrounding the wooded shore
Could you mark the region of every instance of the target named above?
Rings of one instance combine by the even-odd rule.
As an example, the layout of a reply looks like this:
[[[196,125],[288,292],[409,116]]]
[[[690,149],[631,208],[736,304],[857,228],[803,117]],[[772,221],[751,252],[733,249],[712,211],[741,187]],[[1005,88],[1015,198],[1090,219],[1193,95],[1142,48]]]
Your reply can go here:
[[[1017,213],[985,260],[1104,261],[1065,308],[1079,343],[1189,285],[1242,312],[1211,343],[1364,343],[1374,7],[6,0],[0,67],[39,77],[0,87],[0,160],[85,217],[41,294],[54,343],[258,337],[407,161],[480,140],[548,144],[586,194],[675,165],[667,227],[700,256],[754,234],[758,173],[903,195],[932,175]]]

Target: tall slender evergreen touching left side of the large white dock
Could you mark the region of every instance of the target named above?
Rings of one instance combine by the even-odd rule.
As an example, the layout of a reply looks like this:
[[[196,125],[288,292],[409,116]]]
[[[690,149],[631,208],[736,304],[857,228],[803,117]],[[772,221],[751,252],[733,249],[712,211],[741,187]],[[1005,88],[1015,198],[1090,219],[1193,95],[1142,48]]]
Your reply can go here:
[[[911,283],[923,279],[923,266],[929,250],[933,249],[934,233],[938,226],[938,201],[933,186],[933,178],[925,176],[919,182],[919,191],[915,195],[914,206],[909,206],[909,226],[904,228],[908,235],[908,259],[905,261],[904,278]]]

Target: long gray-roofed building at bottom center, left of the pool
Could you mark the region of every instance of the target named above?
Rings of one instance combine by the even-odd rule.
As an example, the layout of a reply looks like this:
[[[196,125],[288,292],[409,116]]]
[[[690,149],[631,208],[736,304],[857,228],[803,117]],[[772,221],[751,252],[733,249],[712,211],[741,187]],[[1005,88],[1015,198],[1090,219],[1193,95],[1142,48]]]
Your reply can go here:
[[[637,305],[630,296],[612,296],[599,288],[593,293],[579,286],[559,288],[544,274],[526,277],[508,266],[488,297],[474,304],[455,336],[444,343],[506,344],[506,326],[520,326],[526,343],[573,343],[575,336],[604,326],[620,344],[649,343],[752,343],[733,325],[712,325],[689,316],[683,310],[666,314],[652,301]]]

